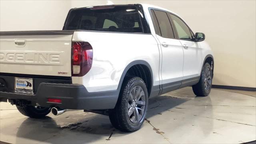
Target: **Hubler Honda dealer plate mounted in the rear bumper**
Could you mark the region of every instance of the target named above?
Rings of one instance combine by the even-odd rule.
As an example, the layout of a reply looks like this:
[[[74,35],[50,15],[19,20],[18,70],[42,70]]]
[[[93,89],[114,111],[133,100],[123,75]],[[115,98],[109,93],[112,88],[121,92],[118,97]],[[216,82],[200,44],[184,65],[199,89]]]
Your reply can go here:
[[[15,90],[33,91],[33,78],[15,78]]]

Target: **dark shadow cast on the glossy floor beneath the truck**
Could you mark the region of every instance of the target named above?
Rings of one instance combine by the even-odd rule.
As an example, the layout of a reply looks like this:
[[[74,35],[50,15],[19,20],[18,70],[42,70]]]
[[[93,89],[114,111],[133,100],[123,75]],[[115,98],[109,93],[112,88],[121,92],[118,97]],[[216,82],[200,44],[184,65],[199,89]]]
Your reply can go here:
[[[160,116],[162,112],[177,108],[178,105],[188,100],[170,96],[152,98],[149,100],[146,118]],[[141,130],[143,130],[143,127]],[[118,134],[126,134],[113,128],[108,116],[83,111],[71,111],[65,112],[60,116],[47,116],[44,119],[27,118],[18,128],[16,138],[37,141],[46,140],[49,143],[72,143],[74,142],[72,140],[75,139],[76,143],[89,143],[98,142],[100,139],[109,140],[113,131]]]

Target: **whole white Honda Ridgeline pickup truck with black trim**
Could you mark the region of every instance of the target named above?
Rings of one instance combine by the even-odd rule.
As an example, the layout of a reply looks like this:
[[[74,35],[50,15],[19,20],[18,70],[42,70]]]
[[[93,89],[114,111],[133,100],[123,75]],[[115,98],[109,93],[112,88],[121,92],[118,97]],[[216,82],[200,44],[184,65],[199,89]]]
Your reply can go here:
[[[32,118],[105,114],[132,132],[148,98],[186,86],[210,93],[214,59],[204,39],[157,6],[72,8],[63,30],[0,32],[0,101]]]

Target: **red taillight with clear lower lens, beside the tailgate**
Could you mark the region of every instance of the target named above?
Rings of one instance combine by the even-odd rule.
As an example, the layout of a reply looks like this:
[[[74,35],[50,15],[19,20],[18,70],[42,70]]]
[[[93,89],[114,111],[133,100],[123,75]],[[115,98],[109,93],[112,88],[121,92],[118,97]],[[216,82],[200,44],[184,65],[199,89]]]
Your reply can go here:
[[[92,46],[88,42],[72,43],[72,76],[84,76],[92,67]]]

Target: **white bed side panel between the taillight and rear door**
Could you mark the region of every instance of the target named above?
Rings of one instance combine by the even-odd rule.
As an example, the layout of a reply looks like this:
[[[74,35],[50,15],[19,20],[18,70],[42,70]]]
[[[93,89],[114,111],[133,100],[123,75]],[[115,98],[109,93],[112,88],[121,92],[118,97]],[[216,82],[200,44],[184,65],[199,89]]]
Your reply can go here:
[[[83,84],[88,92],[116,90],[124,69],[136,60],[150,65],[153,86],[159,85],[159,49],[151,34],[76,31],[73,41],[89,42],[93,48],[91,70],[72,77],[73,84]]]

